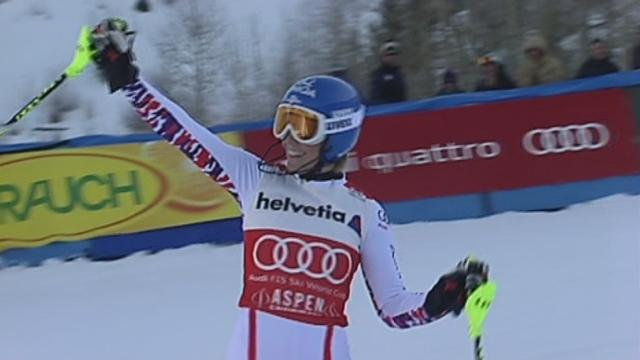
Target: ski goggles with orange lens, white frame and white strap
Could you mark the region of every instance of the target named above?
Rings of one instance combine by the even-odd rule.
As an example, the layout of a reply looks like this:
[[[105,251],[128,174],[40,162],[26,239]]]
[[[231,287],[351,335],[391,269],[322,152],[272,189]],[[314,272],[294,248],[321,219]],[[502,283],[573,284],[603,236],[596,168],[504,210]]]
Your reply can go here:
[[[283,140],[290,132],[293,138],[303,144],[320,144],[327,135],[358,128],[364,119],[365,107],[357,110],[337,112],[335,117],[297,105],[281,104],[276,111],[273,135]]]

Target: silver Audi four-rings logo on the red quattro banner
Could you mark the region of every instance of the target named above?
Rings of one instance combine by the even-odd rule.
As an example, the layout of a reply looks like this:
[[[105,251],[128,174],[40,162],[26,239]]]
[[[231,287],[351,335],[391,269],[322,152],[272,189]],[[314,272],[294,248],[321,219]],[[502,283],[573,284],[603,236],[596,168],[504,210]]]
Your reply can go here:
[[[540,156],[600,149],[610,138],[605,125],[588,123],[531,130],[522,138],[522,146],[528,153]]]

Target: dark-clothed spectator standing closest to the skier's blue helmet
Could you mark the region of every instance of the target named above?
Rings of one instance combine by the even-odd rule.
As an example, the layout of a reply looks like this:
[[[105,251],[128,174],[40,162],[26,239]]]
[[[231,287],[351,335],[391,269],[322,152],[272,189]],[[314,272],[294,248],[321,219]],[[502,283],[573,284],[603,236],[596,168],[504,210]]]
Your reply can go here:
[[[371,73],[370,102],[373,105],[405,101],[404,77],[399,64],[400,46],[388,40],[380,47],[382,64]]]

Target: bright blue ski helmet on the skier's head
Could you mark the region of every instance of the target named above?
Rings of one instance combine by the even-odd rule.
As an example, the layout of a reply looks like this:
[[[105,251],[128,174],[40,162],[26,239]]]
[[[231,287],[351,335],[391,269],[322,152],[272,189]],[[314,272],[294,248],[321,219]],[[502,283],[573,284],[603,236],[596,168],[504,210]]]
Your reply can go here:
[[[356,146],[365,106],[358,91],[346,81],[326,75],[306,77],[287,90],[280,102],[282,105],[323,115],[323,163],[341,160]]]

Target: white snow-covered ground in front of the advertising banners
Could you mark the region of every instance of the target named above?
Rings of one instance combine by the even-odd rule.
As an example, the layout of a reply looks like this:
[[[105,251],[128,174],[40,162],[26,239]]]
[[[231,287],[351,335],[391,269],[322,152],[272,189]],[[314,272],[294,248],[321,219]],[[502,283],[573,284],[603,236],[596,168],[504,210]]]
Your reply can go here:
[[[555,213],[397,226],[410,288],[471,253],[498,298],[488,360],[640,359],[640,197]],[[0,271],[0,359],[223,359],[241,247],[191,246],[92,263]],[[354,359],[472,359],[464,317],[406,331],[379,321],[359,278],[349,305]]]

